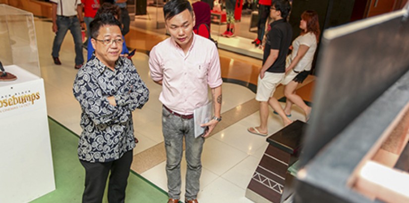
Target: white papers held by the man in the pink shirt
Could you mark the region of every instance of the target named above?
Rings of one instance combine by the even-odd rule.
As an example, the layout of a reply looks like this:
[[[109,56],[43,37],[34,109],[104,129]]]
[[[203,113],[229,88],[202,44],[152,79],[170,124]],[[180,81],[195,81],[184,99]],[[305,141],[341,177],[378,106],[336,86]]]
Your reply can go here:
[[[207,102],[205,105],[200,106],[193,110],[194,120],[194,137],[202,136],[206,127],[201,127],[201,124],[207,123],[212,117],[213,103]]]

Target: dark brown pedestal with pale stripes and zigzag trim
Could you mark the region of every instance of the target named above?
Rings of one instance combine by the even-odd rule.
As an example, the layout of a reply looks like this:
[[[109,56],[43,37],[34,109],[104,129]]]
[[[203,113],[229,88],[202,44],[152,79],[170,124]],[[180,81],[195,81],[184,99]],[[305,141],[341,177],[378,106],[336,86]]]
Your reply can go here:
[[[291,195],[285,191],[292,179],[287,170],[298,160],[305,126],[296,120],[267,138],[269,146],[247,186],[246,198],[255,203],[281,203]]]

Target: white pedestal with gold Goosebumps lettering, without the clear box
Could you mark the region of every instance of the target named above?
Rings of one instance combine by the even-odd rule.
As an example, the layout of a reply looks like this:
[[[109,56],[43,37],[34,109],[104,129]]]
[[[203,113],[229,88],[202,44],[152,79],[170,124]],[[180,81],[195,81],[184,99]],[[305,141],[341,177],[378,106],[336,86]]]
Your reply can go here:
[[[27,203],[56,189],[42,78],[16,66],[0,82],[0,203]]]

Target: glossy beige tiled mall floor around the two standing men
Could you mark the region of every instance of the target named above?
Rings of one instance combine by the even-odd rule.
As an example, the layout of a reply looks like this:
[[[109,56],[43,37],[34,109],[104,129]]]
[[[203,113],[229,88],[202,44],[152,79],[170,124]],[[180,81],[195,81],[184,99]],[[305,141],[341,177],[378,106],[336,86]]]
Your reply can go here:
[[[68,129],[80,134],[81,110],[78,102],[72,96],[72,83],[77,72],[73,68],[74,46],[72,37],[67,33],[60,51],[62,65],[57,66],[54,65],[51,58],[54,38],[51,23],[37,19],[35,25],[41,72],[46,87],[48,114]],[[152,33],[145,33],[145,35],[151,35],[151,38],[156,39],[164,38],[164,36],[156,36]],[[136,34],[130,34],[127,38],[135,38],[135,41],[140,39]],[[152,42],[144,41],[141,43]],[[138,48],[141,50],[140,47]],[[254,85],[254,75],[257,75],[261,61],[227,51],[220,51],[220,56],[224,71],[223,77],[236,77]],[[149,78],[147,60],[148,56],[142,52],[137,52],[133,57],[137,71],[150,90],[150,99],[141,110],[136,110],[133,113],[135,136],[138,137],[140,143],[134,151],[132,169],[137,172],[140,171],[143,177],[166,191],[167,178],[160,111],[162,104],[158,101],[161,87]],[[313,79],[307,80],[306,83],[311,81]],[[278,88],[277,94],[282,95],[281,91],[282,89]],[[234,116],[223,117],[224,120],[219,125],[226,127],[221,127],[205,142],[202,156],[201,190],[198,196],[200,203],[251,203],[244,197],[245,189],[267,147],[265,137],[256,136],[246,131],[247,127],[256,126],[259,123],[259,115],[256,110],[258,103],[253,101],[254,97],[255,94],[246,87],[233,83],[223,84],[222,115]],[[237,119],[240,115],[246,116]],[[292,115],[291,119],[293,120],[304,120],[301,110],[295,106]],[[272,111],[268,122],[270,134],[283,127],[280,118]],[[186,164],[182,161],[183,175],[185,168]],[[183,191],[184,180],[182,182]],[[182,199],[183,194],[182,192]],[[128,201],[132,202],[131,200]]]

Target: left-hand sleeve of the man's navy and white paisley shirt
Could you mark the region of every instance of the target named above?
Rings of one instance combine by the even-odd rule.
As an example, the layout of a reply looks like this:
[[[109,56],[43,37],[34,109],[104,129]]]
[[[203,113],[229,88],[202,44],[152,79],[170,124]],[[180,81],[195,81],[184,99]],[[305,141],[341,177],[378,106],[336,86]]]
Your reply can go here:
[[[109,103],[108,96],[103,95],[92,72],[80,69],[74,81],[73,93],[84,113],[96,125],[126,122],[131,116],[131,111],[126,106],[113,106]]]

